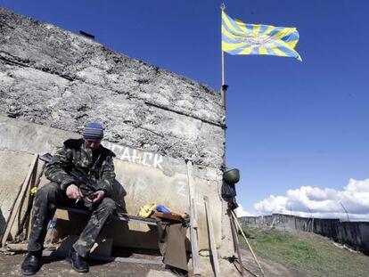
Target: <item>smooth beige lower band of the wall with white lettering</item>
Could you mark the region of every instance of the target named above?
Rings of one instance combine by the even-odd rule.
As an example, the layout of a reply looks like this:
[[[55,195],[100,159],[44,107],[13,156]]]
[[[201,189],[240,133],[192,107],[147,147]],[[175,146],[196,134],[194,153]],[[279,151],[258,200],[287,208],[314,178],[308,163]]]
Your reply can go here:
[[[0,116],[0,126],[4,133],[0,133],[0,150],[3,151],[23,151],[20,158],[12,157],[13,164],[23,165],[23,157],[31,157],[28,152],[53,152],[57,147],[61,147],[64,140],[69,137],[79,137],[79,134],[72,134],[52,127],[41,126],[34,123],[23,122],[19,119],[5,118]],[[31,141],[25,138],[32,138]],[[27,143],[23,143],[27,142]],[[30,143],[32,142],[32,143]],[[158,153],[132,149],[116,143],[103,143],[112,151],[117,153],[114,159],[117,183],[113,197],[123,204],[130,215],[136,215],[139,208],[149,202],[157,202],[165,205],[173,211],[179,213],[189,213],[188,200],[188,178],[187,167],[184,160],[163,157]],[[4,156],[2,159],[7,159]],[[27,161],[28,159],[24,159]],[[0,167],[1,168],[1,167]],[[16,168],[16,167],[14,167]],[[23,169],[23,175],[27,170]],[[9,170],[8,176],[19,174]],[[200,248],[209,248],[208,229],[203,197],[209,197],[211,216],[214,227],[214,234],[217,246],[221,244],[222,229],[222,201],[219,196],[219,185],[221,173],[211,167],[193,167],[195,202],[197,205],[199,218],[199,238]],[[47,183],[45,177],[40,185]],[[76,218],[76,217],[74,217]],[[70,224],[63,223],[62,228],[70,232],[74,228],[73,234],[78,234],[77,224],[80,216]],[[61,223],[60,223],[61,224]],[[135,248],[157,248],[157,233],[152,231],[145,224],[122,224],[114,223],[106,228],[103,235],[114,238],[114,245],[135,247]],[[128,231],[121,235],[122,232]],[[63,232],[62,230],[60,231]],[[64,232],[65,235],[72,234]]]

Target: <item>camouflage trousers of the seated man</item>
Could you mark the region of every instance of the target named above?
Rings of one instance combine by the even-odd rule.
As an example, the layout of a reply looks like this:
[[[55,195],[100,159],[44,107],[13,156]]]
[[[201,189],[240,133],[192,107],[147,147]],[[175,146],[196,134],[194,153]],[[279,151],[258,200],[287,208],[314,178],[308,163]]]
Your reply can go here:
[[[56,206],[80,208],[80,205],[77,206],[75,201],[68,199],[65,192],[61,191],[58,183],[45,184],[37,191],[29,236],[29,251],[37,251],[43,248],[47,224],[52,219]],[[80,202],[82,204],[83,201]],[[73,244],[73,248],[80,256],[86,257],[88,255],[94,241],[102,231],[103,225],[115,208],[116,204],[110,198],[103,198],[100,203],[92,206],[92,215],[78,240]]]

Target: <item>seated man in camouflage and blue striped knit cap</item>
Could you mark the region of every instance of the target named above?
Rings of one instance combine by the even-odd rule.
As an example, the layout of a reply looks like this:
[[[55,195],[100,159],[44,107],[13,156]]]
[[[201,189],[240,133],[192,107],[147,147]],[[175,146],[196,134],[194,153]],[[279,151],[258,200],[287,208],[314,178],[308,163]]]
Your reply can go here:
[[[29,253],[21,265],[25,275],[37,273],[41,266],[42,250],[47,224],[57,205],[87,208],[92,215],[85,229],[70,250],[67,260],[78,273],[88,272],[86,257],[102,231],[116,204],[110,195],[115,179],[112,157],[114,153],[100,143],[103,129],[99,123],[87,123],[81,139],[70,139],[56,152],[45,167],[45,176],[51,181],[37,191],[29,237]],[[79,167],[97,183],[91,191],[75,183],[68,174],[70,168]]]

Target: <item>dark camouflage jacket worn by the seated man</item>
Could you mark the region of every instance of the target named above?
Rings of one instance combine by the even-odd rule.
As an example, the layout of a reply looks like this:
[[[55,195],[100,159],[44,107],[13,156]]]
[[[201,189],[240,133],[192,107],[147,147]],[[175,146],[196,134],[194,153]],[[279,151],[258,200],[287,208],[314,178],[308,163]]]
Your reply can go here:
[[[61,190],[66,191],[70,183],[75,183],[72,176],[68,174],[71,168],[82,169],[88,177],[96,184],[98,190],[105,191],[111,195],[115,179],[114,164],[112,157],[114,153],[102,145],[98,149],[87,148],[83,139],[70,139],[53,155],[53,160],[46,164],[45,176],[50,181],[59,183]],[[82,193],[87,196],[93,192],[80,185]]]

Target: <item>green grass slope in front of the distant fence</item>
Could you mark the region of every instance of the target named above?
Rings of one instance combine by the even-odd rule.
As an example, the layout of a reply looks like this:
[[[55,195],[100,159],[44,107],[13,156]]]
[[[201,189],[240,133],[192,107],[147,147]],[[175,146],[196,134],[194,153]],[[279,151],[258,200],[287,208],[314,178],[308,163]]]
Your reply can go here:
[[[254,252],[306,276],[369,276],[369,257],[338,248],[310,232],[282,232],[243,227]],[[246,241],[240,236],[242,248]]]

